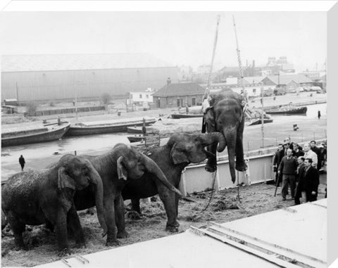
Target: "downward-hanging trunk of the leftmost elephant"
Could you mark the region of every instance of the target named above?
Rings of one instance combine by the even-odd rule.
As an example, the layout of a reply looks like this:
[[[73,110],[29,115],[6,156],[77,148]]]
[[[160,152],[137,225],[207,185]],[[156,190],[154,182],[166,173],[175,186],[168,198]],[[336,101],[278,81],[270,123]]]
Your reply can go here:
[[[102,236],[105,236],[107,234],[107,225],[104,219],[104,186],[102,185],[99,173],[94,167],[90,170],[89,180],[94,184],[97,219],[99,219],[99,223],[102,229],[104,229]]]

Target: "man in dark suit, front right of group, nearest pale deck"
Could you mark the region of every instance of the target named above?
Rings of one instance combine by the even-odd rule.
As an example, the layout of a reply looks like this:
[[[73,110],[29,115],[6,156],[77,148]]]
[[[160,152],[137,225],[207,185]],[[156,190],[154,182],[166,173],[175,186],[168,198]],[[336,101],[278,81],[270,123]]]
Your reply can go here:
[[[304,172],[304,189],[306,193],[306,202],[317,200],[319,186],[319,172],[312,166],[312,159],[306,158]]]

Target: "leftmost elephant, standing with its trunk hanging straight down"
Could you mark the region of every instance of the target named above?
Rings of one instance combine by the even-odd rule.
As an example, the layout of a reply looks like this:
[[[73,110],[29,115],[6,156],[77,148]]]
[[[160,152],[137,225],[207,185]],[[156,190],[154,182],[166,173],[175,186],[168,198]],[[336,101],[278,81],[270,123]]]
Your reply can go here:
[[[15,246],[27,250],[23,241],[25,225],[54,226],[58,255],[70,253],[67,227],[77,247],[85,246],[84,235],[73,202],[76,191],[94,188],[97,217],[106,234],[101,177],[89,160],[64,155],[54,167],[30,170],[11,176],[1,189],[1,208],[14,234]]]

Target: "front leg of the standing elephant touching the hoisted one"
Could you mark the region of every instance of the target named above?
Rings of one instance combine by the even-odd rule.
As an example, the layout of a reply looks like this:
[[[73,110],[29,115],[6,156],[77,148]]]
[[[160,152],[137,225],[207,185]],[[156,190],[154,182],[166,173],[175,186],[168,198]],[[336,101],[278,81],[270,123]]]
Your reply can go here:
[[[165,231],[177,232],[180,224],[177,222],[176,193],[168,191],[164,186],[158,184],[158,196],[160,196],[163,202],[168,217]]]

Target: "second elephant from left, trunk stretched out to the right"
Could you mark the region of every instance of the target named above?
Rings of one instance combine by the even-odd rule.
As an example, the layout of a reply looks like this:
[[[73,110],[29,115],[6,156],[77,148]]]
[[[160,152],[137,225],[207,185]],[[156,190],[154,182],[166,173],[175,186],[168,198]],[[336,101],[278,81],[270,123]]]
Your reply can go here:
[[[154,160],[123,143],[116,144],[111,151],[101,155],[82,155],[80,157],[92,162],[102,178],[104,217],[108,228],[106,245],[119,245],[120,242],[117,238],[128,236],[125,231],[125,205],[121,195],[128,182],[139,179],[145,172],[148,172],[153,174],[156,181],[161,182],[161,185],[182,196],[180,191],[170,184]],[[75,208],[77,210],[92,208],[95,205],[93,196],[91,187],[77,191],[74,196]],[[117,232],[115,225],[118,229]]]

